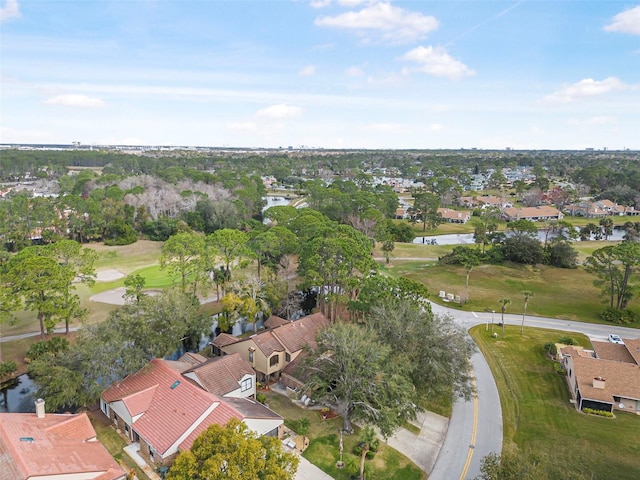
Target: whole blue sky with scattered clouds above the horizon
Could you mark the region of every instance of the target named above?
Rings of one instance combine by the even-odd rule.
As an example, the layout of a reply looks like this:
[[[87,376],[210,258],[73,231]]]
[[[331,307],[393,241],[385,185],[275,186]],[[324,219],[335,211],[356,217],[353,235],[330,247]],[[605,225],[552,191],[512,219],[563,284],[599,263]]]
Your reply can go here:
[[[0,143],[640,149],[640,3],[0,0]]]

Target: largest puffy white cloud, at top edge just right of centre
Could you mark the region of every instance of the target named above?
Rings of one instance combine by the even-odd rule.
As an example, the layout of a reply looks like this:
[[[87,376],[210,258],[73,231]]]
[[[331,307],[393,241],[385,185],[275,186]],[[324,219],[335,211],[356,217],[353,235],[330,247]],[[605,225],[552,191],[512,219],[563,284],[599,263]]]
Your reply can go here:
[[[389,3],[376,3],[357,12],[318,17],[318,27],[343,28],[356,31],[365,41],[410,43],[425,38],[438,28],[438,20],[419,12],[409,12]]]

